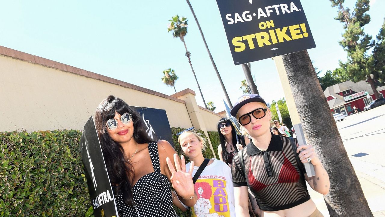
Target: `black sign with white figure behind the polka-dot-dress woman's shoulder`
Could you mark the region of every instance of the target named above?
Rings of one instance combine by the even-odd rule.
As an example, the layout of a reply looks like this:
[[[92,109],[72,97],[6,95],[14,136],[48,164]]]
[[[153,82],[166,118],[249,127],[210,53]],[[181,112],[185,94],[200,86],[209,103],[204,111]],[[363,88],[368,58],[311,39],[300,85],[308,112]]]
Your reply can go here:
[[[134,106],[131,108],[139,113],[144,125],[147,127],[146,131],[152,139],[164,139],[174,147],[166,110]]]

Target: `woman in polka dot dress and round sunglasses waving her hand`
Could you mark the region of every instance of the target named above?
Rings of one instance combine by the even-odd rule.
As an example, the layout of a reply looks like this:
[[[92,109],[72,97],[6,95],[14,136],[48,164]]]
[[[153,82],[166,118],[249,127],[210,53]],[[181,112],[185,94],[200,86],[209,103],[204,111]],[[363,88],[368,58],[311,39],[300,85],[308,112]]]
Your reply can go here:
[[[192,168],[186,172],[184,157],[178,159],[167,141],[152,141],[126,102],[105,98],[97,107],[95,125],[120,217],[176,217],[169,181],[183,203],[195,204]]]

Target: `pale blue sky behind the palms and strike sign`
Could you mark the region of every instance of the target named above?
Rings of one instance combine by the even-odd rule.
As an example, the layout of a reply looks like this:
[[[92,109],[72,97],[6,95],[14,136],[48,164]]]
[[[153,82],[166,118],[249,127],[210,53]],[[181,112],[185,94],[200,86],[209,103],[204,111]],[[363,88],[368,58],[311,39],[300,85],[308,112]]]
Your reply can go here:
[[[352,7],[355,0],[346,0]],[[339,46],[342,24],[328,0],[302,0],[316,48],[308,50],[314,66],[334,70],[346,53]],[[215,0],[191,0],[209,49],[234,103],[244,74],[234,66]],[[0,45],[116,78],[167,95],[174,89],[161,81],[162,71],[173,68],[177,91],[191,88],[203,101],[191,73],[184,46],[167,32],[173,15],[189,19],[185,37],[191,61],[206,102],[224,110],[224,94],[191,11],[184,0],[168,1],[1,1]],[[365,31],[375,37],[385,16],[384,0],[371,0],[371,22]],[[260,95],[266,102],[284,97],[272,59],[251,63]],[[119,97],[119,96],[117,96]],[[141,105],[135,105],[141,106]]]

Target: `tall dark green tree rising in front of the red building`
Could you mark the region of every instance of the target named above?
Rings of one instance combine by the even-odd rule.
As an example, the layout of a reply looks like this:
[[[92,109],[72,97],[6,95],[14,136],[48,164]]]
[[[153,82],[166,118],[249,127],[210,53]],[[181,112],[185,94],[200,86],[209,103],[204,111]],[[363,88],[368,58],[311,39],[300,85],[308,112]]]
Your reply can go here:
[[[375,97],[378,98],[376,81],[382,81],[385,77],[384,73],[379,70],[381,62],[384,61],[383,53],[381,53],[384,47],[381,47],[382,42],[375,43],[372,36],[363,31],[363,26],[370,22],[370,16],[367,14],[369,0],[357,0],[352,11],[350,8],[344,7],[344,0],[330,0],[330,2],[333,7],[338,8],[338,15],[335,19],[342,22],[345,29],[342,34],[343,39],[339,43],[347,52],[348,58],[346,63],[340,61],[343,70],[340,70],[339,73],[353,82],[367,80]],[[379,40],[383,39],[381,35],[383,36],[383,31],[378,34]],[[373,46],[375,46],[373,53],[369,53],[368,50]],[[375,54],[376,52],[377,54]],[[375,59],[377,59],[377,64]]]

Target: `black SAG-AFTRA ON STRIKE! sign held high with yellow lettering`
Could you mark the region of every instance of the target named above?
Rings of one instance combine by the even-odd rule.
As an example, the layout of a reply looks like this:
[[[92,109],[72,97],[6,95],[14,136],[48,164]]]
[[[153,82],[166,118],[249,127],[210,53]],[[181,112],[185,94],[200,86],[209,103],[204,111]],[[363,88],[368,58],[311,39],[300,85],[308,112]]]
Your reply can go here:
[[[314,48],[300,0],[217,0],[235,65]]]

